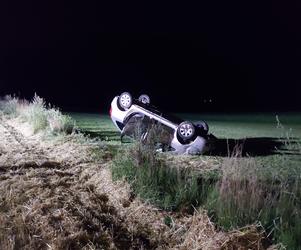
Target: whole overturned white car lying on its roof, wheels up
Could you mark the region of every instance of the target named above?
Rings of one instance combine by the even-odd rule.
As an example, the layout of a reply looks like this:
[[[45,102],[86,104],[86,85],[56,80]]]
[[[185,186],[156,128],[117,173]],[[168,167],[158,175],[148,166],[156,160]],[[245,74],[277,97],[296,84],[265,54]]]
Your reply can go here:
[[[206,150],[209,127],[206,122],[192,123],[178,117],[162,113],[150,104],[147,95],[134,99],[130,93],[115,96],[110,108],[110,116],[123,136],[139,136],[147,140],[150,128],[160,127],[162,144],[180,154],[201,154]],[[163,131],[163,132],[162,132]]]

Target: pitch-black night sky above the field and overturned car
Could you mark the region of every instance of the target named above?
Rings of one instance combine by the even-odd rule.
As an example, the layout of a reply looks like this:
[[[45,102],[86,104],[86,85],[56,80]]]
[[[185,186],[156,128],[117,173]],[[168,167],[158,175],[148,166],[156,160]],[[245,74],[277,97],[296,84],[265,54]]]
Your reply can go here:
[[[107,111],[123,91],[170,111],[301,110],[300,2],[103,2],[2,3],[0,95],[65,110]]]

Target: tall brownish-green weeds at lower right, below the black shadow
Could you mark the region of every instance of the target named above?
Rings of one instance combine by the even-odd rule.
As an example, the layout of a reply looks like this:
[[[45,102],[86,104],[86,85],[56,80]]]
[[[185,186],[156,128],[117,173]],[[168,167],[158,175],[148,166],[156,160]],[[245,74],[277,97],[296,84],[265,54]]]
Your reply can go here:
[[[259,222],[271,242],[300,249],[301,176],[300,171],[294,175],[293,169],[284,169],[254,158],[224,159],[222,177],[206,202],[217,225],[233,229]]]

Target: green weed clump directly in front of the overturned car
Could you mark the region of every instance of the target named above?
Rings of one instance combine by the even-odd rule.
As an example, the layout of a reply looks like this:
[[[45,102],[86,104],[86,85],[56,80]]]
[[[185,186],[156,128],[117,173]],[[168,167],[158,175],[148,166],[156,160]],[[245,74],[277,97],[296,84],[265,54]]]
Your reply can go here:
[[[135,195],[167,210],[192,212],[208,194],[212,176],[168,166],[144,144],[120,152],[112,164],[113,179],[125,179]]]

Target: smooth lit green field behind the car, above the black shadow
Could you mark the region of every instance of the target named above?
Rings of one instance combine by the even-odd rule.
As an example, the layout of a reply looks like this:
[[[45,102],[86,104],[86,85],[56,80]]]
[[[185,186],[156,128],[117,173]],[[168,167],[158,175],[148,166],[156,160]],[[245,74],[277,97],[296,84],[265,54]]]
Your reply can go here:
[[[119,133],[110,117],[104,114],[70,113],[77,125],[107,141],[116,141]],[[277,127],[277,114],[178,114],[191,121],[207,121],[210,132],[218,138],[242,139],[246,137],[278,138],[281,131]],[[282,113],[278,118],[286,130],[292,130],[293,136],[301,137],[301,113]]]

